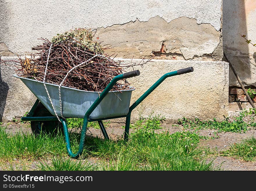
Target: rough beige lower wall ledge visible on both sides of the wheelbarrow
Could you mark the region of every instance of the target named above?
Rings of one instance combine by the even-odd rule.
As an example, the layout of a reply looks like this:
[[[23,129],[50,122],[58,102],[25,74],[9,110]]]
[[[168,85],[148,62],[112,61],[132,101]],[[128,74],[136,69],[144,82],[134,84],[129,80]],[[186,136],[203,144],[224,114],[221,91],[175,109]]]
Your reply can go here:
[[[7,59],[4,57],[4,59]],[[8,59],[15,59],[9,57]],[[122,59],[123,63],[139,63],[141,59]],[[228,63],[214,61],[186,61],[186,60],[151,60],[134,69],[140,70],[140,76],[129,78],[129,82],[136,88],[132,92],[131,104],[147,91],[161,76],[178,69],[193,67],[194,71],[166,78],[145,100],[137,106],[131,115],[131,120],[138,119],[139,113],[144,117],[152,111],[154,115],[161,114],[167,122],[177,122],[182,117],[200,119],[222,119],[228,113]],[[207,67],[205,67],[207,66]],[[29,111],[35,101],[30,90],[12,74],[15,73],[15,63],[12,66],[1,66],[1,79],[6,83],[8,91],[2,91],[1,108],[3,116],[11,120],[21,117]],[[129,70],[127,70],[129,72]]]

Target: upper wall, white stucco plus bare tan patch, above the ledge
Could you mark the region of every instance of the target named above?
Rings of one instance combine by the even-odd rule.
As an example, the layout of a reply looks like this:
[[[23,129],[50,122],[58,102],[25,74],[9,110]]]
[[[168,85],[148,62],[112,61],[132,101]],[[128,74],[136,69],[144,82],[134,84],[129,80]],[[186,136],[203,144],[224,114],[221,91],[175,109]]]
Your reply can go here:
[[[57,33],[71,28],[101,28],[99,31],[104,32],[118,27],[116,25],[123,25],[124,33],[128,35],[134,32],[134,35],[137,35],[135,29],[129,26],[140,26],[142,28],[136,29],[146,35],[141,39],[136,39],[134,35],[122,34],[124,39],[121,40],[120,37],[115,41],[119,34],[112,32],[100,40],[115,46],[120,40],[136,40],[133,44],[130,43],[132,48],[136,46],[135,49],[140,48],[138,42],[148,41],[150,45],[143,47],[146,49],[143,53],[149,51],[149,54],[159,51],[164,41],[167,53],[181,54],[181,57],[184,54],[185,59],[192,59],[194,51],[197,56],[202,56],[213,53],[217,48],[221,37],[221,6],[222,0],[131,0],[125,3],[113,0],[25,0],[18,3],[13,0],[1,0],[0,42],[4,42],[11,52],[24,54],[31,52],[32,46],[40,44],[38,38],[51,39]],[[134,22],[134,25],[130,22]],[[108,28],[105,29],[106,27]],[[153,37],[157,40],[150,42]],[[129,52],[127,47],[126,49]],[[115,53],[119,57],[131,56],[122,52],[119,55],[118,51]],[[143,53],[139,56],[142,57]]]

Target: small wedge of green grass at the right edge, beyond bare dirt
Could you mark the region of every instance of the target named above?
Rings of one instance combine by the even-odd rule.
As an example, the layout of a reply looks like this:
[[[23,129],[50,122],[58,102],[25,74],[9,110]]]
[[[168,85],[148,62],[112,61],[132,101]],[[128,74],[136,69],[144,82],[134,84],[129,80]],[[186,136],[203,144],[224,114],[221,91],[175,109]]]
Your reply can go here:
[[[240,143],[230,145],[227,151],[221,153],[222,156],[232,156],[245,161],[256,161],[256,139],[252,136]]]

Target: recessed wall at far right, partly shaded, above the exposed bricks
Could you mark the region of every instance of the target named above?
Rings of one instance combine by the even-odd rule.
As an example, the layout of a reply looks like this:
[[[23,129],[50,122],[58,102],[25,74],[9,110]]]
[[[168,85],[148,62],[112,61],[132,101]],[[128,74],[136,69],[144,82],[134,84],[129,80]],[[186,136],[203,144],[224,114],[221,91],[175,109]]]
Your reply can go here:
[[[256,1],[223,1],[223,48],[243,85],[256,85],[256,47],[247,44],[241,35],[256,43]],[[230,69],[230,86],[239,86]]]

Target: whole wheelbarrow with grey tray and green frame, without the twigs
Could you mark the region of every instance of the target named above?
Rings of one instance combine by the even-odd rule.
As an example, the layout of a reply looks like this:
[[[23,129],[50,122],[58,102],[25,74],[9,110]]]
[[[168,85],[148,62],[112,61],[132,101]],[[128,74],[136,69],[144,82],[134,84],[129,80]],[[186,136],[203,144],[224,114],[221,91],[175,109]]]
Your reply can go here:
[[[83,152],[84,141],[88,122],[97,121],[105,139],[109,139],[103,120],[126,117],[124,140],[128,141],[131,112],[138,106],[157,86],[159,86],[167,77],[176,76],[193,72],[193,67],[179,69],[173,72],[164,74],[159,78],[141,97],[137,99],[131,106],[131,93],[135,88],[130,87],[129,90],[110,91],[118,80],[139,76],[140,71],[132,71],[115,76],[112,81],[106,86],[102,92],[90,92],[78,90],[74,88],[61,87],[62,94],[62,109],[63,117],[56,117],[52,105],[46,95],[43,82],[33,79],[23,78],[14,74],[31,90],[37,97],[26,117],[22,117],[22,121],[31,121],[32,132],[37,135],[40,132],[54,132],[58,127],[63,126],[66,148],[68,154],[72,158],[78,158]],[[49,94],[51,95],[52,103],[57,111],[57,116],[60,115],[58,85],[45,83]],[[70,136],[65,118],[83,118],[83,126],[81,130],[81,138],[77,153],[73,153],[70,145]],[[60,119],[60,122],[58,121]]]

